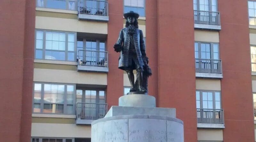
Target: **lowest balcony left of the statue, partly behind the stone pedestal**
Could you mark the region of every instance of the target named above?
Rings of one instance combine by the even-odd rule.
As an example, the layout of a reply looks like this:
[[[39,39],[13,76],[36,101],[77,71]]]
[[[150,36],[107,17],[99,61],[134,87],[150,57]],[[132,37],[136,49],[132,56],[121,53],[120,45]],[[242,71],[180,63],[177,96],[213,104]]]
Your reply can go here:
[[[91,124],[103,118],[107,111],[106,103],[76,103],[76,124]]]

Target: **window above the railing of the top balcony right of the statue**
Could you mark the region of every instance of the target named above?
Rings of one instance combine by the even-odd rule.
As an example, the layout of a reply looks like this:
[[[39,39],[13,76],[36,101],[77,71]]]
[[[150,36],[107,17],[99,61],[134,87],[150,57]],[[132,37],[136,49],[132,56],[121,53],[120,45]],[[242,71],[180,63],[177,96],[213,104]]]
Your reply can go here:
[[[217,0],[193,0],[194,10],[217,12]]]

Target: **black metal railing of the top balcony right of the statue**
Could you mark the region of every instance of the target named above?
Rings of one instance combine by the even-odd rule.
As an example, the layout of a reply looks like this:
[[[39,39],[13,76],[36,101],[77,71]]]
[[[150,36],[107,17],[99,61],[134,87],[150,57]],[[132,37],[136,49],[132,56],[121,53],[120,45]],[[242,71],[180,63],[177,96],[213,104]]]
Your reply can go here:
[[[220,12],[194,10],[196,24],[220,25]]]

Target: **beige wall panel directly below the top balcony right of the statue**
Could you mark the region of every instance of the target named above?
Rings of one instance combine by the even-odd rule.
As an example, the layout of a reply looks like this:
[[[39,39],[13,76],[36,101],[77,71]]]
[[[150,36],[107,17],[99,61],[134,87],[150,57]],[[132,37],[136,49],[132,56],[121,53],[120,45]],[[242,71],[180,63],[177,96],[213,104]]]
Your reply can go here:
[[[195,30],[195,41],[220,42],[219,32]]]

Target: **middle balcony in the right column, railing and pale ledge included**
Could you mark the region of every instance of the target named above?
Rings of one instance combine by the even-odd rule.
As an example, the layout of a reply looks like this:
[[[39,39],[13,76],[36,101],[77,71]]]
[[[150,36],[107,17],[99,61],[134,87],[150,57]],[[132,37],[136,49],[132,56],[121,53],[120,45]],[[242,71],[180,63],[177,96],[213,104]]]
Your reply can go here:
[[[223,78],[221,60],[196,59],[196,77]]]

